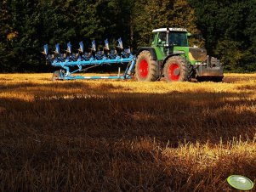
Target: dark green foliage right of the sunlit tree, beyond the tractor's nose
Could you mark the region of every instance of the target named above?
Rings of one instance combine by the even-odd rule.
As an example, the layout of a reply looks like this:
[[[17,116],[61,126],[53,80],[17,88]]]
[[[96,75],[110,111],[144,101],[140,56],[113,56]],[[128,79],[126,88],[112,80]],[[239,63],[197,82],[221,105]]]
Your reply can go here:
[[[189,0],[210,54],[227,71],[256,71],[255,1]]]

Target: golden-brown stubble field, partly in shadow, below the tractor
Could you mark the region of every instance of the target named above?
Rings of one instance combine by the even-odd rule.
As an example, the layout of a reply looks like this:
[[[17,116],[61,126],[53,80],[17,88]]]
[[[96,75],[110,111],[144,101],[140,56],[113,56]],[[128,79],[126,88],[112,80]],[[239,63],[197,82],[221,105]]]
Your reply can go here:
[[[50,77],[0,75],[1,191],[232,191],[231,174],[256,182],[256,74]]]

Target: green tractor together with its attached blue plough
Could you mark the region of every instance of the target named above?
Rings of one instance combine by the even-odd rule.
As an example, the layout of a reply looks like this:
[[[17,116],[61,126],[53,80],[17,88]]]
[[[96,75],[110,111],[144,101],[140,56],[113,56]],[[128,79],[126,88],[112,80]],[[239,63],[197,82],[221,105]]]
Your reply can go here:
[[[85,53],[82,42],[77,54],[71,54],[71,43],[67,44],[66,54],[60,54],[59,44],[55,46],[54,55],[48,54],[48,46],[44,46],[44,54],[51,65],[59,66],[55,71],[54,80],[71,79],[129,79],[135,75],[137,81],[154,82],[162,77],[167,82],[185,82],[196,78],[197,81],[222,82],[223,66],[219,59],[207,55],[204,48],[189,47],[188,37],[191,35],[183,28],[160,28],[153,30],[151,47],[139,48],[136,58],[130,49],[122,47],[121,38],[118,46],[110,50],[105,40],[103,51],[96,51],[92,42],[90,52]],[[77,71],[87,71],[89,68],[104,64],[127,64],[122,76],[72,76]],[[70,67],[77,66],[71,71]]]

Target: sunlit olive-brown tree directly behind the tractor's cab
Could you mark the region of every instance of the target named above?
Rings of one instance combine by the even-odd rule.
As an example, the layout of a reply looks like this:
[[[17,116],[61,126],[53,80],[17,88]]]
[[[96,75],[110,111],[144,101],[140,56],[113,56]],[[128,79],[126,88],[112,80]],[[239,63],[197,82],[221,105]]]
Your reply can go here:
[[[134,44],[137,47],[148,45],[151,31],[160,27],[183,27],[191,33],[200,32],[196,26],[194,9],[186,0],[135,1]]]

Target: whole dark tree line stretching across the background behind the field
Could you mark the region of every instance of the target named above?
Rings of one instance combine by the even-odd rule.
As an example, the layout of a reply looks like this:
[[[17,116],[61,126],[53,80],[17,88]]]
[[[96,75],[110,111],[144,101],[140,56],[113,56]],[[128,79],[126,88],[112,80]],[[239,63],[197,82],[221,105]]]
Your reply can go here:
[[[0,72],[48,71],[43,44],[73,48],[122,37],[134,53],[150,45],[151,31],[185,27],[217,56],[226,71],[256,71],[254,0],[2,0]]]

